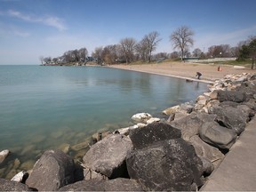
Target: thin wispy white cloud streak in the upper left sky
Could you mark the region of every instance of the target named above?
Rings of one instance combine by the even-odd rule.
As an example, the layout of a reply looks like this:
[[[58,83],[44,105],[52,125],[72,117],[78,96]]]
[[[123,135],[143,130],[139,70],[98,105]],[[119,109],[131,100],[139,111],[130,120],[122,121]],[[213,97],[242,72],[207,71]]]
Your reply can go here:
[[[43,23],[44,25],[57,28],[60,31],[67,29],[63,21],[60,20],[60,18],[54,16],[35,17],[14,10],[9,10],[8,15],[28,22]]]

